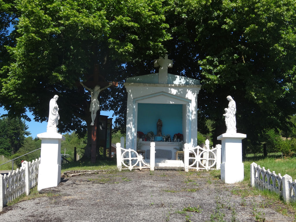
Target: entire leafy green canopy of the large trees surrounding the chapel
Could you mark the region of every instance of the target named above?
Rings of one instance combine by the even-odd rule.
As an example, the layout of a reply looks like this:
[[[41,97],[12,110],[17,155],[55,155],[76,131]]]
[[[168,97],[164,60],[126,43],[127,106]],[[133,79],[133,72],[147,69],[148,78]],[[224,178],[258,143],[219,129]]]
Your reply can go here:
[[[238,132],[248,135],[252,149],[265,129],[295,137],[294,0],[6,2],[0,19],[5,60],[0,106],[11,114],[25,116],[28,108],[37,121],[46,120],[49,99],[58,94],[59,131],[84,136],[90,101],[78,82],[93,86],[98,64],[106,81],[120,83],[102,92],[100,108],[114,110],[115,128],[123,129],[122,83],[155,72],[153,59],[167,52],[174,61],[170,73],[201,81],[199,132],[213,135],[214,144],[226,129],[228,95],[237,104]],[[7,37],[10,18],[16,30]],[[285,145],[282,150],[289,152]]]

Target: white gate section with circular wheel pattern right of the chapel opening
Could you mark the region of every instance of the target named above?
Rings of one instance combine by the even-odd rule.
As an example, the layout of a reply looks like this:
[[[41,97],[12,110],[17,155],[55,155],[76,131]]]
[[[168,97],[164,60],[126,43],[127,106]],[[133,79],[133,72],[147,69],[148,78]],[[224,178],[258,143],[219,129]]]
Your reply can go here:
[[[221,166],[221,145],[210,149],[210,141],[205,141],[205,148],[200,146],[189,148],[189,144],[184,144],[184,168],[195,170],[219,170]]]

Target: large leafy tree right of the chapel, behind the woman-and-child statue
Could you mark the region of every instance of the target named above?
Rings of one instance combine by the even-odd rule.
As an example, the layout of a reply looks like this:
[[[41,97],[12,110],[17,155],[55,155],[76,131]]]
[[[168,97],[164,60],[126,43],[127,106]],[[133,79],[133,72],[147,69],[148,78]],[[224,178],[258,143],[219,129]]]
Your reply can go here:
[[[199,114],[215,122],[214,139],[226,131],[228,95],[238,132],[251,141],[285,128],[296,108],[295,0],[180,0],[168,8],[171,72],[201,80]]]

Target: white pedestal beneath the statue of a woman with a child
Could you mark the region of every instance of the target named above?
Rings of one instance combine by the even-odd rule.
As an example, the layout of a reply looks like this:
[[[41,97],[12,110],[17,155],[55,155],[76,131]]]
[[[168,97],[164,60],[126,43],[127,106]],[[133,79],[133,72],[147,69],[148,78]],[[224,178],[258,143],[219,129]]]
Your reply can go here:
[[[244,164],[242,163],[242,133],[223,133],[217,139],[221,140],[221,180],[226,184],[234,184],[244,179]]]

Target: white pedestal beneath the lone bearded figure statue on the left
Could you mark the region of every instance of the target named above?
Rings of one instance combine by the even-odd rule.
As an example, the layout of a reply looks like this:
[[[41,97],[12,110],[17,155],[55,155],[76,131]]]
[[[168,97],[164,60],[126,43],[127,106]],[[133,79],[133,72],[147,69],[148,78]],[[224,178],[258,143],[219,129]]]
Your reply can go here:
[[[38,170],[38,191],[57,186],[61,182],[61,141],[65,136],[57,132],[39,133],[41,163]]]

